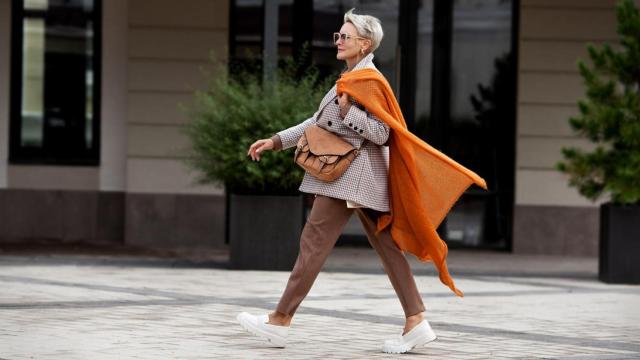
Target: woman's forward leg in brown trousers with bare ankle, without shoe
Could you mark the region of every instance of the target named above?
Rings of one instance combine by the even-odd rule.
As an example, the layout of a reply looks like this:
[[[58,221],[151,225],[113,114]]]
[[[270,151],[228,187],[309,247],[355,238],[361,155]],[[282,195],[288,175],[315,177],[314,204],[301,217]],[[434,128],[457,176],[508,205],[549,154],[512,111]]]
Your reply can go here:
[[[352,214],[344,200],[316,196],[300,235],[298,258],[270,323],[289,325]]]

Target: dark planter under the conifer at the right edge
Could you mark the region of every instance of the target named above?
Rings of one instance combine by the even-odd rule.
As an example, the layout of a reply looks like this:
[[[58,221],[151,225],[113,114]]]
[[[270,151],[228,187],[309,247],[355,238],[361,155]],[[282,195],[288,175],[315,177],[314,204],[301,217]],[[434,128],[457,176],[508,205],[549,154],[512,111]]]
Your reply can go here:
[[[600,206],[598,277],[612,284],[640,284],[640,205]]]

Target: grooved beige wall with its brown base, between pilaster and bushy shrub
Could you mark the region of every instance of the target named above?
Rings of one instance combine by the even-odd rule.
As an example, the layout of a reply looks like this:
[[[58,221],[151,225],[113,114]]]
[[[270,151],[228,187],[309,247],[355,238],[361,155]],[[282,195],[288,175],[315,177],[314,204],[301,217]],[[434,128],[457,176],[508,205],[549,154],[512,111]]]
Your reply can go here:
[[[222,246],[223,190],[196,185],[183,163],[180,126],[211,70],[225,61],[229,3],[129,0],[125,241],[135,245]]]

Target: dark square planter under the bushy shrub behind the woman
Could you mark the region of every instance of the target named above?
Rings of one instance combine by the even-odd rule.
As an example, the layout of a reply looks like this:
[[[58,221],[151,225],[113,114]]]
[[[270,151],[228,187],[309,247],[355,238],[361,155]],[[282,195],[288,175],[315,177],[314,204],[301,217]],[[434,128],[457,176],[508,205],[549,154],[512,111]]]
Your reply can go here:
[[[303,197],[229,196],[230,267],[293,269],[304,224]]]

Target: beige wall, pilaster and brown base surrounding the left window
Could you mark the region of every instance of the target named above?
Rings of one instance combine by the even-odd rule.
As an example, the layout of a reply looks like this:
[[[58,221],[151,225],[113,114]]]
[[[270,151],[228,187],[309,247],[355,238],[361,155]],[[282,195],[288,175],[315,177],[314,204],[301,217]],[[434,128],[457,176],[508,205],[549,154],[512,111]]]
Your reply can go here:
[[[11,14],[10,3],[0,2],[3,19]],[[0,191],[1,242],[123,243],[126,10],[127,0],[103,2],[100,166],[8,164],[8,139],[0,141],[0,169],[6,169],[0,175],[5,183]],[[10,29],[4,27],[4,21],[0,23],[7,29],[1,32],[7,34],[1,46],[8,47]],[[8,86],[8,77],[0,83]],[[9,102],[8,92],[0,93],[0,102]],[[0,108],[0,134],[4,134],[9,129],[8,111],[5,115],[7,107]]]

